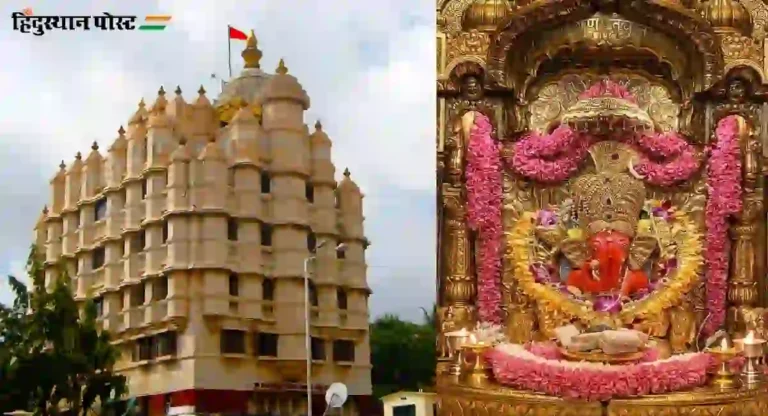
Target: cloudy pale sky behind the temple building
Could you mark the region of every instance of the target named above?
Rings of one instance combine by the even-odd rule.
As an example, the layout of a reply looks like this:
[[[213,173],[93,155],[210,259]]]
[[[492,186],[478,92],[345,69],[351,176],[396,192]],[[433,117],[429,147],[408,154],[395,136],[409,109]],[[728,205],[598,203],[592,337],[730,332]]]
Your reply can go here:
[[[434,0],[6,0],[0,5],[0,274],[23,275],[32,229],[63,159],[105,149],[143,97],[202,84],[213,101],[228,78],[227,25],[253,29],[262,68],[280,58],[311,97],[333,160],[365,193],[371,314],[418,320],[435,298]],[[162,32],[12,30],[10,15],[143,17]],[[245,42],[232,41],[242,68]],[[340,179],[340,178],[337,178]],[[5,279],[0,302],[12,297]]]

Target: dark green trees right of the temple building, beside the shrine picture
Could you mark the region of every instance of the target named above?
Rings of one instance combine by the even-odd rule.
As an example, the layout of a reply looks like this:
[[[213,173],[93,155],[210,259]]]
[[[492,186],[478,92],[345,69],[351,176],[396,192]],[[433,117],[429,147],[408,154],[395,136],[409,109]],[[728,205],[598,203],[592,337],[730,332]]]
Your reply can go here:
[[[385,315],[371,324],[373,393],[381,397],[398,390],[428,389],[435,377],[436,327],[433,312],[415,324]]]

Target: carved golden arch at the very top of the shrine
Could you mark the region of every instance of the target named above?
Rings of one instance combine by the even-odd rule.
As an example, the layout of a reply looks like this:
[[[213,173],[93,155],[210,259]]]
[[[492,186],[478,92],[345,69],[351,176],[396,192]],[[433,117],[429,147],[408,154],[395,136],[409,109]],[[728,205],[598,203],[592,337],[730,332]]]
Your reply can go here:
[[[599,30],[589,28],[594,19],[614,21],[599,35]],[[576,29],[569,33],[562,27],[580,27],[581,36]],[[641,33],[631,33],[631,27]],[[535,59],[551,57],[557,48],[632,47],[662,62],[670,61],[667,63],[670,69],[683,72],[676,78],[685,80],[681,89],[686,97],[708,89],[720,78],[724,68],[722,51],[711,25],[692,10],[643,1],[570,0],[520,8],[499,24],[487,58],[489,87],[515,89],[518,95],[523,95],[520,90],[525,89],[528,78],[535,76],[537,70],[521,65],[512,57],[535,51],[542,44],[537,39],[553,31],[559,31],[561,38],[554,42],[547,38],[549,51],[534,54]],[[670,45],[679,45],[679,48],[670,49]],[[692,59],[686,63],[680,59],[681,54]]]

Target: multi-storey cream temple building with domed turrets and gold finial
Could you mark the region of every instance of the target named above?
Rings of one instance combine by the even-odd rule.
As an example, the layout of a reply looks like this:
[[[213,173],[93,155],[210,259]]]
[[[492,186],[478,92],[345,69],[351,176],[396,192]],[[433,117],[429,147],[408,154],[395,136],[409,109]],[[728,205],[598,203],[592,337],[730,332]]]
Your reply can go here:
[[[46,285],[64,264],[76,298],[95,300],[144,414],[305,413],[308,353],[313,413],[342,382],[343,414],[365,414],[363,195],[349,171],[335,181],[284,62],[264,72],[253,32],[242,56],[213,103],[161,87],[111,145],[62,162],[35,228]]]

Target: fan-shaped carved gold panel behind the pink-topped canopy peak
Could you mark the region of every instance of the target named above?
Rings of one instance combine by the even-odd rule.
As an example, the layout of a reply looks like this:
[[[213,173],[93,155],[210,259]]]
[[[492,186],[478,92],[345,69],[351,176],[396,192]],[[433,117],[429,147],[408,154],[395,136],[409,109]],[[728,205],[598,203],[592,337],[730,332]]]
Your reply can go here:
[[[547,131],[571,109],[581,93],[603,79],[610,79],[627,88],[637,100],[640,110],[650,115],[661,130],[677,130],[681,106],[673,101],[667,86],[628,72],[606,76],[584,71],[566,72],[531,92],[530,128],[539,132]]]

